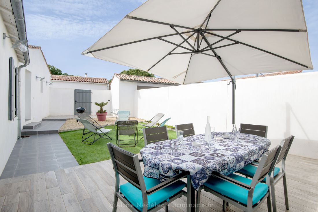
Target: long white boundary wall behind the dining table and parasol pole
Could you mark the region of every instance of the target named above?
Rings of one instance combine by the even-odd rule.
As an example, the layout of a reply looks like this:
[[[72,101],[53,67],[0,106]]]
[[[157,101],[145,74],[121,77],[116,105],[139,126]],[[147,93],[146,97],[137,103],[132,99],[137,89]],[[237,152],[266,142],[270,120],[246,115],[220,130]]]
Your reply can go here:
[[[272,147],[294,135],[290,154],[318,159],[318,72],[237,80],[236,124],[268,125]],[[193,123],[204,133],[206,116],[215,131],[231,131],[232,84],[228,81],[135,91],[134,114],[149,120],[164,113],[168,125]]]

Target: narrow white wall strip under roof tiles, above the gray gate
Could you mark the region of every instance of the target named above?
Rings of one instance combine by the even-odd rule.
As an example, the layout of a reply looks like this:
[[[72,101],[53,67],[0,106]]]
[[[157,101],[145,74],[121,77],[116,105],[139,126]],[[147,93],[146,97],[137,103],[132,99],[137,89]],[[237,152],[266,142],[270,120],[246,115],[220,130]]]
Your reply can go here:
[[[91,82],[72,82],[52,80],[52,88],[73,88],[82,90],[108,90],[108,84],[91,83]]]

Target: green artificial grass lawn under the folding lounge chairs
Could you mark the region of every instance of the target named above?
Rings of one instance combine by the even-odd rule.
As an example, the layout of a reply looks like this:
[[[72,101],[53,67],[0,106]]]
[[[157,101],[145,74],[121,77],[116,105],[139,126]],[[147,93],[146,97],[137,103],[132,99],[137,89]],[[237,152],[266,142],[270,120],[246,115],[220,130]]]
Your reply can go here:
[[[115,130],[114,126],[107,126],[106,129],[111,129],[110,132],[107,133],[107,135],[112,138],[113,140],[106,139],[106,138],[100,138],[98,141],[93,143],[92,145],[86,145],[82,144],[82,132],[83,130],[75,130],[75,131],[68,131],[68,132],[60,132],[59,135],[63,139],[64,143],[68,147],[68,149],[72,152],[73,156],[79,163],[79,165],[88,164],[88,163],[94,163],[102,160],[110,159],[110,155],[107,148],[107,143],[111,142],[113,144],[116,144],[116,127]],[[139,131],[142,126],[138,124],[138,144],[134,147],[122,147],[123,149],[133,152],[133,153],[139,153],[139,150],[144,147],[144,140],[143,138],[140,139],[143,135],[142,132]],[[176,132],[168,130],[169,139],[175,139],[176,138]],[[84,138],[89,136],[91,134],[84,135]],[[93,141],[93,137],[90,137],[88,140]],[[106,136],[105,136],[106,137]],[[97,138],[97,136],[96,136]],[[125,137],[121,137],[125,138]],[[131,136],[130,138],[133,138]],[[125,138],[126,139],[126,138]],[[136,137],[137,139],[137,137]],[[121,141],[123,144],[127,141]],[[128,142],[134,142],[134,141],[128,141]]]

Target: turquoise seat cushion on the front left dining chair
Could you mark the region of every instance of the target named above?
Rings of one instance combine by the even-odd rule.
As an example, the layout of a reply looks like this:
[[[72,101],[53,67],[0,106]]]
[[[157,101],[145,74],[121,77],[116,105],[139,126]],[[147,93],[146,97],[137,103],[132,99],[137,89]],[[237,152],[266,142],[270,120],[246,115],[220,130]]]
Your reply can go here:
[[[143,177],[145,180],[146,189],[152,188],[159,183],[160,180]],[[169,201],[169,198],[179,191],[181,191],[185,187],[185,183],[182,181],[177,181],[172,185],[169,185],[161,190],[148,195],[148,210],[156,207],[158,204],[162,203],[163,201]],[[120,192],[124,195],[124,197],[137,208],[139,211],[142,211],[142,193],[141,190],[133,186],[132,184],[125,183],[119,187]]]

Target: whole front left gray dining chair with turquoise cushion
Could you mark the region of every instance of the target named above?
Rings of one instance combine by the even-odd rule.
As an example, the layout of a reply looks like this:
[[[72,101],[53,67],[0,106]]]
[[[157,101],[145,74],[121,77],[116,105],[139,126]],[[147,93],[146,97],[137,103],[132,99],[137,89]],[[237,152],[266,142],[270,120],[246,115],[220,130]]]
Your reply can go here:
[[[107,146],[116,179],[113,212],[117,210],[118,199],[134,212],[155,212],[163,207],[168,211],[168,204],[182,195],[187,197],[187,203],[190,205],[190,192],[183,191],[186,183],[181,180],[187,177],[187,187],[191,187],[189,172],[183,172],[164,182],[144,177],[140,166],[142,159],[138,159],[136,154],[123,150],[112,143],[108,143]],[[120,185],[119,175],[128,182]],[[187,211],[190,211],[190,207],[187,208]]]

